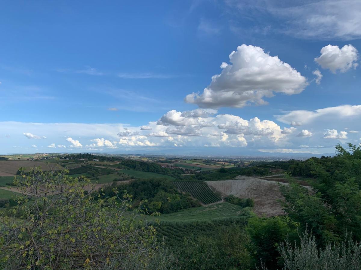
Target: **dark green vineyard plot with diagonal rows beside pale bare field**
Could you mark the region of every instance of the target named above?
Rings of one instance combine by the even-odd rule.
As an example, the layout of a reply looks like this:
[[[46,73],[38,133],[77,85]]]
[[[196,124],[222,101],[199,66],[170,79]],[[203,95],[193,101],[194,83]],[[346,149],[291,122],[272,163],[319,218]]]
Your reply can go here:
[[[173,182],[182,192],[188,192],[192,197],[204,204],[221,201],[212,189],[204,181],[174,181]]]

